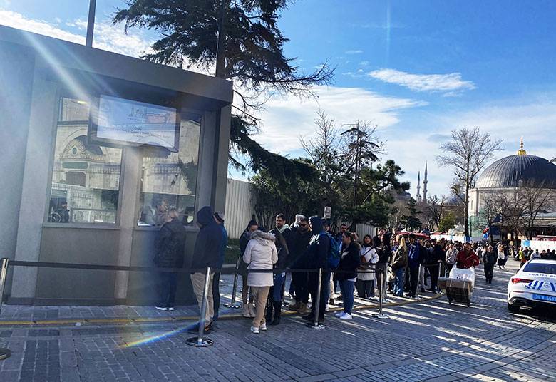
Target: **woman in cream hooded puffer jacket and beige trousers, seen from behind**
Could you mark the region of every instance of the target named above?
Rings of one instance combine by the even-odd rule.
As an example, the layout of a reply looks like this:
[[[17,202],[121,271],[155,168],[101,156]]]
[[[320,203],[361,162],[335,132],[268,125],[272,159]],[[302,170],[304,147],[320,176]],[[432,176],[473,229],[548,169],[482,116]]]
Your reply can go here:
[[[278,261],[278,252],[274,244],[274,234],[262,231],[251,233],[251,239],[247,243],[243,261],[249,264],[247,269],[269,269]],[[252,297],[255,301],[255,316],[251,331],[259,333],[260,330],[267,330],[267,323],[264,321],[264,308],[267,306],[267,297],[270,287],[274,284],[272,272],[249,273],[247,275],[247,285],[251,289]]]

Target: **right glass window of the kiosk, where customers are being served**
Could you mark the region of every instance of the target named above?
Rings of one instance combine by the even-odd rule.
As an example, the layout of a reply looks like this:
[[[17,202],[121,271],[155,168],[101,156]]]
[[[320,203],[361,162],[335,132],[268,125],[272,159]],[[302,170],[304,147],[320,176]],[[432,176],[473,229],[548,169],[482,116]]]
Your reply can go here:
[[[177,153],[143,148],[138,225],[163,224],[170,207],[177,208],[184,225],[193,224],[200,130],[200,115],[182,113]]]

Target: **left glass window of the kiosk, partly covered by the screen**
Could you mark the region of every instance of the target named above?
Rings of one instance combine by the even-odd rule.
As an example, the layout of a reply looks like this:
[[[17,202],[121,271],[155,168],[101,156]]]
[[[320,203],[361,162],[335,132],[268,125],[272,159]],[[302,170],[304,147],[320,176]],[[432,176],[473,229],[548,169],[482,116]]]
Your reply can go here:
[[[122,150],[89,143],[88,100],[62,97],[48,222],[115,223]]]

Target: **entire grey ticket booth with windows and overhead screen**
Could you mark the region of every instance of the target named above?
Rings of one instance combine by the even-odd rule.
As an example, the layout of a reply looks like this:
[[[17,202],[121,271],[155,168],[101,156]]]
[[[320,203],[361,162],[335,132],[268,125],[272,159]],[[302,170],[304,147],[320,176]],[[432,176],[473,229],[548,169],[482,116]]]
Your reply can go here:
[[[1,257],[154,267],[168,208],[190,264],[224,210],[232,83],[0,26]],[[187,274],[178,301],[192,301]],[[153,273],[16,268],[16,304],[152,304]]]

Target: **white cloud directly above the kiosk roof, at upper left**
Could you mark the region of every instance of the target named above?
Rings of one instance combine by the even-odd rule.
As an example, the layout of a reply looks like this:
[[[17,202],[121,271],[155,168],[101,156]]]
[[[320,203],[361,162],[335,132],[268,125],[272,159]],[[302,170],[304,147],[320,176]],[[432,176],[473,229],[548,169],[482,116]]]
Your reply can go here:
[[[60,21],[57,22],[58,24],[60,23]],[[58,26],[48,23],[48,21],[28,19],[22,14],[13,11],[0,9],[0,24],[73,43],[85,43],[85,36],[81,34],[64,31],[58,28]],[[68,21],[66,25],[83,31],[87,27],[86,21],[82,20]],[[95,48],[138,57],[150,51],[150,45],[151,41],[144,38],[142,33],[125,34],[123,25],[113,26],[108,21],[101,21],[95,24],[93,40],[93,47]]]

